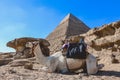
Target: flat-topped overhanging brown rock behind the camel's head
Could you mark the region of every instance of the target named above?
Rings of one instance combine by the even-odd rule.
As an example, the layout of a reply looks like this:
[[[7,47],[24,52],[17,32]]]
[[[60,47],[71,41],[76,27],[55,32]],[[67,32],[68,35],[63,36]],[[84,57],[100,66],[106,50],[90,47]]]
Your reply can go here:
[[[8,47],[14,48],[16,50],[15,59],[19,58],[29,58],[29,57],[34,57],[33,49],[27,48],[25,45],[27,42],[34,42],[34,41],[39,41],[40,44],[44,45],[45,47],[50,46],[50,43],[41,38],[31,38],[31,37],[22,37],[22,38],[16,38],[12,41],[9,41],[6,45]],[[48,50],[47,50],[48,51]]]

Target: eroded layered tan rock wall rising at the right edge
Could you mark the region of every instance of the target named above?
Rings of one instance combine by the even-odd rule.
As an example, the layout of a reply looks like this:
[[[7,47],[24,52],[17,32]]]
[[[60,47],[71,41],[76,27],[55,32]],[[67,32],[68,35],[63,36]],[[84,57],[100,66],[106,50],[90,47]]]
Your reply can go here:
[[[78,35],[78,38],[80,36],[85,37],[88,52],[101,58],[102,62],[105,60],[109,63],[112,55],[120,61],[120,21],[91,29],[85,34]]]

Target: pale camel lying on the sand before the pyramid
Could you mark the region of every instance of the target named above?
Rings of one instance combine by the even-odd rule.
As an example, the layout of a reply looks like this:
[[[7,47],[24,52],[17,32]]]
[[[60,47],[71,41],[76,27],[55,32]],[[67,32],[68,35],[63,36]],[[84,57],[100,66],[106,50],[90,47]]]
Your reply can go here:
[[[84,68],[86,63],[86,69],[88,74],[96,74],[101,66],[98,66],[97,59],[92,55],[88,54],[86,59],[73,59],[65,58],[62,52],[56,52],[50,56],[45,56],[42,52],[42,46],[40,42],[27,42],[27,47],[34,48],[34,54],[36,60],[45,65],[43,69],[47,72],[61,72],[66,73],[69,70],[76,70]]]

